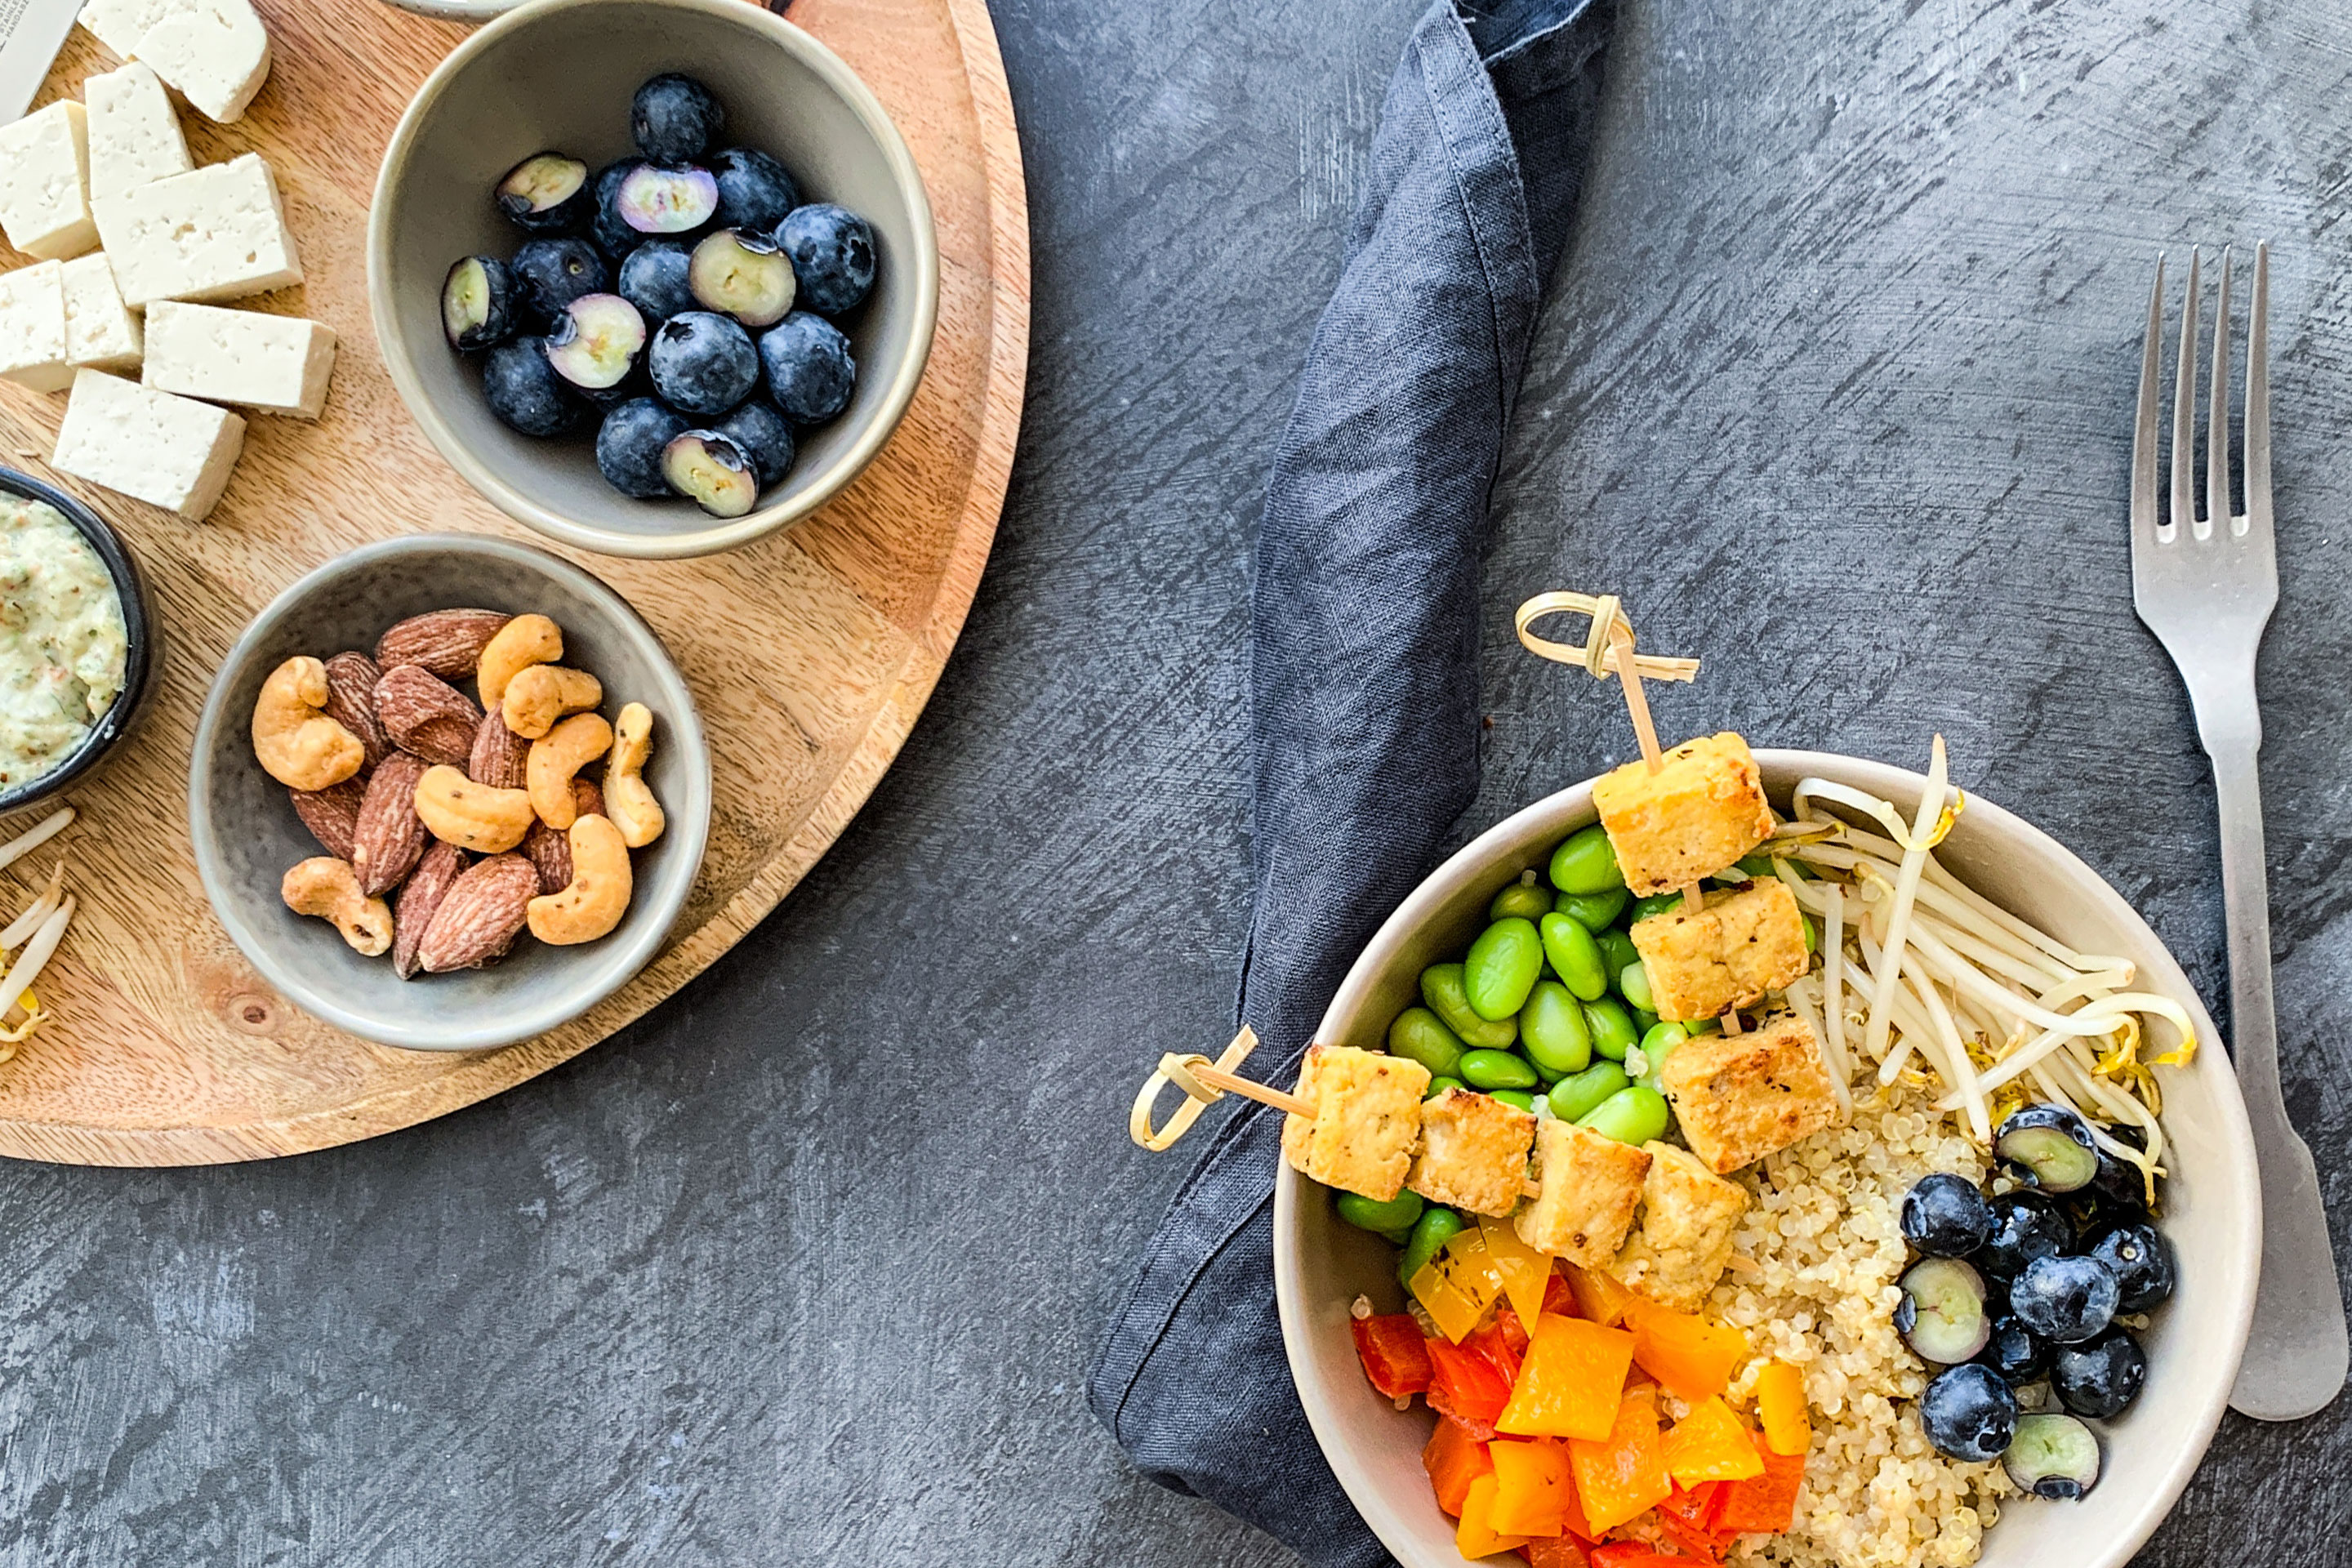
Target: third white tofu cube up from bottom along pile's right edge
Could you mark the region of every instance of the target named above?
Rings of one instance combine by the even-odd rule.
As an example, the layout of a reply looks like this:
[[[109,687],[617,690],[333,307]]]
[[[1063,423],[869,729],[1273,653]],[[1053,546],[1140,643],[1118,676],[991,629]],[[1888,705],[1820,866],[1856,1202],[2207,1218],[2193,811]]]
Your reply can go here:
[[[254,153],[99,197],[96,214],[127,306],[301,282],[278,181]]]

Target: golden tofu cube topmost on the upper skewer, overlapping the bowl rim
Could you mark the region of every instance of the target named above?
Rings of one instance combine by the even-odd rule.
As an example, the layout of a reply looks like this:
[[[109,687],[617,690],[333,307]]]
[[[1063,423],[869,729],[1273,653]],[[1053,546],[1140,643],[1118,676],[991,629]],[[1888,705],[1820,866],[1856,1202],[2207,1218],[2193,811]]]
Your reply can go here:
[[[1604,773],[1592,804],[1637,898],[1712,877],[1771,832],[1757,759],[1729,731],[1684,741],[1656,773],[1646,762]]]

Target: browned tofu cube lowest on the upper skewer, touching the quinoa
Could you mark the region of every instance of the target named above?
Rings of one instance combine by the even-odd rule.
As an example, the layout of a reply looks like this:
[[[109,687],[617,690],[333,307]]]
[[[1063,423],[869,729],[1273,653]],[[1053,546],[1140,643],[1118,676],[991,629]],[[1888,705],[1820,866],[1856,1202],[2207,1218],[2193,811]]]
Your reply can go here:
[[[1837,1121],[1837,1088],[1811,1025],[1783,1013],[1748,1034],[1698,1034],[1658,1070],[1682,1138],[1712,1171],[1738,1171]]]

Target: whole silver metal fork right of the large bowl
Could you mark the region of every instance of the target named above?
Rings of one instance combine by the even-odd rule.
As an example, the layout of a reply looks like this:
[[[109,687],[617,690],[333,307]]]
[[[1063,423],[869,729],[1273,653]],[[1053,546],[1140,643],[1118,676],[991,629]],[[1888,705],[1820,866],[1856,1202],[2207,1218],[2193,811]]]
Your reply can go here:
[[[2173,371],[2173,494],[2157,520],[2157,346],[2164,256],[2147,296],[2140,416],[2131,437],[2131,602],[2180,668],[2197,738],[2213,759],[2220,886],[2230,924],[2230,1013],[2237,1081],[2263,1164],[2263,1281],[2253,1335],[2230,1403],[2258,1420],[2300,1420],[2345,1382],[2345,1305],[2312,1152],[2279,1093],[2279,1025],[2270,1001],[2270,879],[2263,865],[2263,715],[2253,656],[2279,602],[2270,531],[2270,244],[2253,249],[2246,310],[2246,510],[2230,512],[2230,252],[2220,254],[2213,369],[2206,393],[2206,515],[2197,517],[2197,252],[2190,252],[2180,357]]]

